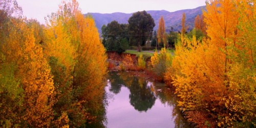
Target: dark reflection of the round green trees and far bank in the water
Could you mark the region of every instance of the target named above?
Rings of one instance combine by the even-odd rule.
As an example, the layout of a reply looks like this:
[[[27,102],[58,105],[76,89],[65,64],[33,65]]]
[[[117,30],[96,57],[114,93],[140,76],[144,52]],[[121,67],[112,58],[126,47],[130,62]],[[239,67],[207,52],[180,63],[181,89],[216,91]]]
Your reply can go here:
[[[110,73],[111,77],[111,88],[109,89],[114,94],[118,94],[121,87],[127,87],[131,94],[129,95],[130,103],[134,106],[137,111],[147,111],[151,109],[155,104],[156,96],[151,91],[150,87],[147,86],[147,82],[144,79],[134,77],[125,72]]]

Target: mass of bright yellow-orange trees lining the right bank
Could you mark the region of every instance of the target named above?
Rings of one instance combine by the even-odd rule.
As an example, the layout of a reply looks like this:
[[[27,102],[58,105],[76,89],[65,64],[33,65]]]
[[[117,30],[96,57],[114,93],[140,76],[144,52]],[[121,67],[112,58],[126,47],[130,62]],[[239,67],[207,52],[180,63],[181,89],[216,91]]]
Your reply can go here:
[[[183,111],[207,114],[200,119],[205,121],[203,126],[256,126],[254,4],[207,1],[191,37],[182,23],[175,55],[162,49],[151,58],[155,73],[176,89]],[[199,29],[206,35],[197,37]]]

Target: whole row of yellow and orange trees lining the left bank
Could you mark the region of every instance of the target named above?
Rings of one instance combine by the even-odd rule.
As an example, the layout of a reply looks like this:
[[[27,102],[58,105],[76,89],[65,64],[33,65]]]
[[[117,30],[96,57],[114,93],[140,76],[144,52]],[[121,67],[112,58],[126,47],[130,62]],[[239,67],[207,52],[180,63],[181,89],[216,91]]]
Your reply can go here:
[[[79,127],[104,119],[105,49],[75,0],[61,2],[46,26],[27,20],[15,0],[0,2],[0,17],[1,127]]]

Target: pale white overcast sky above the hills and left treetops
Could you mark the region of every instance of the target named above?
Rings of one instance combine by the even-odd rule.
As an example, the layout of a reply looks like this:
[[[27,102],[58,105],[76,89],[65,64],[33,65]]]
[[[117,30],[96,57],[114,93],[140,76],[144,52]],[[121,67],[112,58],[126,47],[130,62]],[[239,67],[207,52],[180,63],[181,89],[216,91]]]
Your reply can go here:
[[[35,18],[41,24],[44,17],[58,10],[61,0],[16,0],[23,8],[23,14]],[[143,10],[166,10],[169,12],[181,9],[193,9],[205,5],[205,0],[77,0],[82,13],[98,12],[133,13]]]

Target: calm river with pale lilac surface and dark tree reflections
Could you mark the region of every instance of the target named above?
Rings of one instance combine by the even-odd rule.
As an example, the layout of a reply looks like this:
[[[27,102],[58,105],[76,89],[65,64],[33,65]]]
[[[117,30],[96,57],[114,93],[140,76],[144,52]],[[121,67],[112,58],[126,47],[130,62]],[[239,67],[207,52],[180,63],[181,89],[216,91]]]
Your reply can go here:
[[[105,91],[106,127],[189,127],[164,83],[110,72]]]

